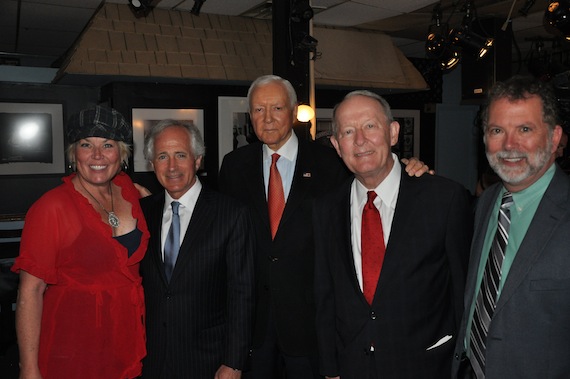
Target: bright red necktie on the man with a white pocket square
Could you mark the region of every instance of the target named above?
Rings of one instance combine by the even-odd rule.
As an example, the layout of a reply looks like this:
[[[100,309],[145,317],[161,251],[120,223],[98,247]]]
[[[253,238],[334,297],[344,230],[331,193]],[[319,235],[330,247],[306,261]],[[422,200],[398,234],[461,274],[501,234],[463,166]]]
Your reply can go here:
[[[372,304],[376,285],[384,262],[384,232],[380,212],[374,205],[376,192],[368,191],[368,201],[362,211],[362,287],[368,304]]]

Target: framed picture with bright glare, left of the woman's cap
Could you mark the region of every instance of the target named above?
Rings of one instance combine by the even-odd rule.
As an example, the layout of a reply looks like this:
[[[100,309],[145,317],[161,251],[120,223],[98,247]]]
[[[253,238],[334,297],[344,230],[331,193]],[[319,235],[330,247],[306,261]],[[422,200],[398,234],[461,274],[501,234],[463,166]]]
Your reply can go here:
[[[64,172],[63,105],[0,103],[0,175]]]

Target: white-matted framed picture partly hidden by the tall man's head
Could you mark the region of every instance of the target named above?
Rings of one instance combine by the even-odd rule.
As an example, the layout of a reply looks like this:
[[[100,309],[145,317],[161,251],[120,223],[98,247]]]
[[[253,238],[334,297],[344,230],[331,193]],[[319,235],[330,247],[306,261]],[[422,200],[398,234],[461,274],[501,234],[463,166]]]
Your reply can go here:
[[[227,153],[255,141],[257,137],[249,118],[247,97],[218,97],[219,167]]]

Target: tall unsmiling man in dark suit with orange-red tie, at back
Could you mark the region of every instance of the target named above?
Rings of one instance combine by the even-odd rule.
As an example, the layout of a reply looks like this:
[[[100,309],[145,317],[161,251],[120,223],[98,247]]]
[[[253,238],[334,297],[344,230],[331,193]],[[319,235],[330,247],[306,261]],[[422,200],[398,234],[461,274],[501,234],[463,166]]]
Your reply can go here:
[[[224,157],[219,183],[222,192],[250,207],[256,231],[256,311],[248,377],[281,377],[278,368],[284,365],[288,378],[318,378],[312,205],[342,183],[348,172],[333,149],[306,142],[293,132],[297,95],[291,83],[262,76],[247,96],[261,142]],[[272,224],[268,194],[275,153],[284,209]],[[406,169],[410,175],[421,175],[427,166],[413,160]]]

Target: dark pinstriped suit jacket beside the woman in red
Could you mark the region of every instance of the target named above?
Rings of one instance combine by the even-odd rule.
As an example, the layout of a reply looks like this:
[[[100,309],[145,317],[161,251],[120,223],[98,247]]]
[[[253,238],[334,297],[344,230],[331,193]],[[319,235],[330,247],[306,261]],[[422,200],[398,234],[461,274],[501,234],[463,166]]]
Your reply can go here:
[[[160,246],[164,192],[141,205],[151,234],[141,262],[148,351],[143,376],[211,379],[221,364],[243,368],[253,314],[249,212],[203,187],[167,283]]]

